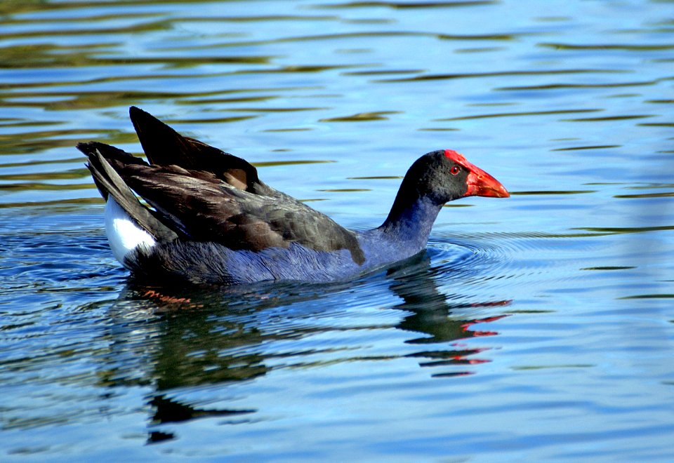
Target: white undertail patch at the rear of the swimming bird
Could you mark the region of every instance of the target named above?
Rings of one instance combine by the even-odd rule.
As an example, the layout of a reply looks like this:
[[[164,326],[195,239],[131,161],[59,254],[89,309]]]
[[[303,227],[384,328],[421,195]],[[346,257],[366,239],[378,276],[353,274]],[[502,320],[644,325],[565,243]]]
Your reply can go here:
[[[138,246],[151,248],[157,241],[109,196],[105,203],[105,234],[114,257],[124,265],[124,257]]]

